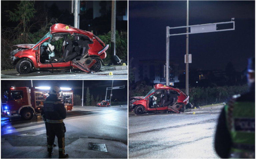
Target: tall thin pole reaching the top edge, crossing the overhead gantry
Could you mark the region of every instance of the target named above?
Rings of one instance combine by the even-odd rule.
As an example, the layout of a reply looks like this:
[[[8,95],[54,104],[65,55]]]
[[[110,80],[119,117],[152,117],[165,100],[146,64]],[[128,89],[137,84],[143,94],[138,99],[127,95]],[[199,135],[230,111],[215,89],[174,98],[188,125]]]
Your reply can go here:
[[[187,0],[187,26],[188,26],[188,0]],[[188,33],[188,27],[186,28]],[[188,96],[188,34],[186,35],[186,95]]]

